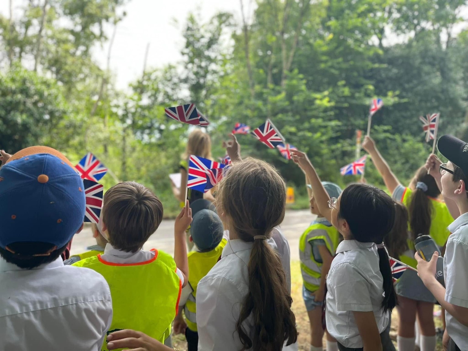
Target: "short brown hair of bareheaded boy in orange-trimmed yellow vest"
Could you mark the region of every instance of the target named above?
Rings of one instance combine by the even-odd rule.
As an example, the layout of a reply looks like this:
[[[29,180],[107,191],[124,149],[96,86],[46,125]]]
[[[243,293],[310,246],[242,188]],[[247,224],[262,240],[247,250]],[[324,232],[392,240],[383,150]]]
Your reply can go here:
[[[119,183],[104,195],[102,221],[116,249],[137,252],[158,229],[162,215],[159,198],[139,183]]]

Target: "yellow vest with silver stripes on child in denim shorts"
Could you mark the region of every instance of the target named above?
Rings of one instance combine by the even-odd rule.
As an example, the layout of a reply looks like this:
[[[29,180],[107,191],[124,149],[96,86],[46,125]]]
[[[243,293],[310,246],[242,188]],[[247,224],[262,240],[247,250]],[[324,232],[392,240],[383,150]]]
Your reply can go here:
[[[314,240],[325,242],[331,256],[335,256],[340,234],[326,219],[316,219],[299,239],[299,257],[302,279],[307,290],[315,292],[320,287],[322,264],[317,261],[312,249]]]

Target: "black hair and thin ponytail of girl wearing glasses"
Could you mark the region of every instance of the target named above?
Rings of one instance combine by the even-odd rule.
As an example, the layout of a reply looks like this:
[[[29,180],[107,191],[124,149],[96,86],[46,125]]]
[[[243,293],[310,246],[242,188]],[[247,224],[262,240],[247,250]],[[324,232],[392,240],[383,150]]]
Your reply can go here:
[[[383,190],[365,184],[354,184],[341,194],[338,217],[345,219],[353,238],[359,242],[381,243],[393,227],[395,202]],[[384,312],[397,303],[387,250],[378,249],[379,269],[385,293]]]

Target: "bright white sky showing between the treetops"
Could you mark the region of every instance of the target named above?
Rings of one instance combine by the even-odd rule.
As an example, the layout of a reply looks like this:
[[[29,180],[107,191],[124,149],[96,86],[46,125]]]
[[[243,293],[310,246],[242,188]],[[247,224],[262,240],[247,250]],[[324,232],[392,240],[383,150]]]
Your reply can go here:
[[[243,0],[248,7],[250,0]],[[9,0],[0,0],[0,13],[9,16]],[[255,3],[255,2],[254,2]],[[13,0],[14,9],[24,0]],[[182,30],[189,12],[199,9],[202,21],[218,11],[228,11],[241,20],[239,0],[130,0],[123,10],[127,15],[117,26],[110,68],[117,78],[117,88],[124,89],[143,71],[146,45],[149,43],[148,67],[161,67],[181,59]],[[174,19],[178,24],[174,24]],[[108,36],[112,29],[108,28]],[[106,66],[108,43],[96,47],[95,59]]]

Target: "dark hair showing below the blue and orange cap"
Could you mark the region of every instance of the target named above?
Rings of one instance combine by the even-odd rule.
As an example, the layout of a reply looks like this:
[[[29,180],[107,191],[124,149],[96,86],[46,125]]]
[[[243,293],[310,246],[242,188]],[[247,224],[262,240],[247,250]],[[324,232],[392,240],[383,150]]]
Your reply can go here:
[[[68,243],[60,249],[53,250],[48,256],[33,256],[43,254],[52,249],[55,245],[49,242],[38,241],[13,242],[7,246],[15,253],[0,248],[0,256],[2,256],[5,261],[13,263],[20,268],[33,269],[41,264],[54,262],[62,255],[67,245]]]

